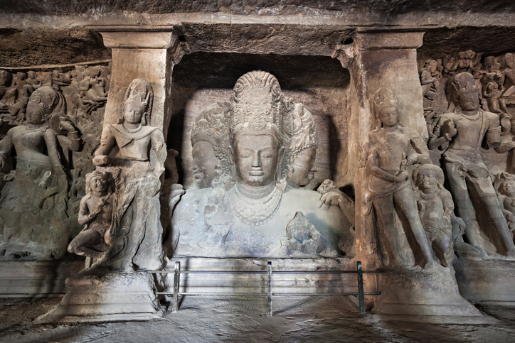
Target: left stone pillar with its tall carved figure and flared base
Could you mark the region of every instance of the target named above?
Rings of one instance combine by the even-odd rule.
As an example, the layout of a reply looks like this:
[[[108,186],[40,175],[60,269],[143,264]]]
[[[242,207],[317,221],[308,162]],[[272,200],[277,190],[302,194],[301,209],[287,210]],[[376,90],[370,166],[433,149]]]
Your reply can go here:
[[[156,295],[155,281],[160,283],[161,278],[142,270],[159,269],[164,263],[159,178],[166,143],[161,130],[166,132],[168,127],[165,103],[171,95],[170,74],[182,48],[171,32],[101,33],[112,50],[112,75],[102,143],[93,163],[96,173],[110,173],[116,183],[112,219],[103,236],[108,247],[100,257],[95,256],[97,261],[90,268],[66,280],[68,293],[58,307],[39,319],[42,322],[149,320],[164,311]],[[134,119],[135,113],[139,119]],[[122,115],[124,121],[119,124]],[[134,130],[135,124],[139,126]],[[115,148],[118,153],[111,154]],[[79,239],[78,244],[87,241]]]

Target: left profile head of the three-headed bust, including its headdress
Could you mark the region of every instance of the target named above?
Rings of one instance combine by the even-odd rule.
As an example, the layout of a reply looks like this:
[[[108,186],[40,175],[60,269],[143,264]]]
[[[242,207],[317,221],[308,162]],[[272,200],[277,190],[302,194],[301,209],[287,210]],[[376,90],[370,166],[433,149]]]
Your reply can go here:
[[[202,111],[193,123],[191,168],[198,188],[211,187],[214,178],[230,173],[229,110],[228,102],[215,104]]]

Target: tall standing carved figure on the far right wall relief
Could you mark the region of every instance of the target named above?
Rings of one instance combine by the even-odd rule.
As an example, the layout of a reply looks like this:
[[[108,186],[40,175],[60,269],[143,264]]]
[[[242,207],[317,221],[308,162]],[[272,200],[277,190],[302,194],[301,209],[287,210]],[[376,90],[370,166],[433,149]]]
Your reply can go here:
[[[474,207],[481,206],[494,222],[506,254],[515,256],[515,245],[489,178],[489,170],[479,154],[479,147],[485,138],[490,148],[499,147],[499,116],[479,108],[479,89],[474,77],[467,72],[452,77],[447,86],[447,95],[449,112],[440,118],[428,145],[435,148],[443,144],[447,146],[446,143],[450,142],[443,154],[444,169],[457,214],[467,226],[467,241],[484,249]],[[469,187],[474,188],[474,195],[469,192]]]

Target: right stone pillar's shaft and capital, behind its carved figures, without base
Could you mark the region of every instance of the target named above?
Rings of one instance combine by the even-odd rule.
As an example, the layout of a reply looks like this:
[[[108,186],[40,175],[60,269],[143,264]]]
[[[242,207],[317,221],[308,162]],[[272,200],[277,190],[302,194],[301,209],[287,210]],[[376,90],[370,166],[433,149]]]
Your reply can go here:
[[[368,212],[366,153],[368,134],[376,129],[371,97],[376,89],[392,89],[398,99],[399,124],[428,137],[423,116],[423,98],[418,77],[416,49],[423,32],[356,33],[354,43],[339,45],[333,57],[351,74],[351,114],[349,119],[349,180],[356,188],[356,258],[363,268],[379,265],[374,224]]]

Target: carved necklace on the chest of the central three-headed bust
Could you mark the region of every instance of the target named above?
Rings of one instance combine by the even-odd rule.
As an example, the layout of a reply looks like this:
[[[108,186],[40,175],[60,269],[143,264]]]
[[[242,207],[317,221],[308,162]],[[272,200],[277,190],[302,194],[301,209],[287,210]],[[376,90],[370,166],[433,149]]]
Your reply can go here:
[[[274,217],[282,199],[282,192],[274,187],[274,190],[261,199],[249,199],[241,194],[234,185],[228,191],[230,205],[233,212],[242,222],[253,227],[259,227]]]

